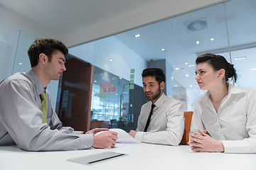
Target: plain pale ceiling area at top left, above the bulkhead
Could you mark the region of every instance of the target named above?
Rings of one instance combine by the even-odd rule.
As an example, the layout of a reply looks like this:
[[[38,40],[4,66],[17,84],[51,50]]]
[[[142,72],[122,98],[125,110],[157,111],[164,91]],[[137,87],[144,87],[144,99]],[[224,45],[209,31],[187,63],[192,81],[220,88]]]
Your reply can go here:
[[[65,35],[155,4],[154,0],[0,0],[0,5]]]

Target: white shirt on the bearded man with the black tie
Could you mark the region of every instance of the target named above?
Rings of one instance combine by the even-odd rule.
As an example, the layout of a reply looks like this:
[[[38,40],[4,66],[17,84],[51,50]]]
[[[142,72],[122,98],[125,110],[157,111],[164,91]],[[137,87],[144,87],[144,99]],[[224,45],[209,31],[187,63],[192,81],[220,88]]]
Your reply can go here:
[[[135,139],[161,145],[178,145],[184,130],[181,102],[163,93],[154,103],[156,106],[151,116],[148,132],[142,132],[151,111],[151,104],[152,102],[149,101],[142,106],[137,126],[139,132],[136,133]]]

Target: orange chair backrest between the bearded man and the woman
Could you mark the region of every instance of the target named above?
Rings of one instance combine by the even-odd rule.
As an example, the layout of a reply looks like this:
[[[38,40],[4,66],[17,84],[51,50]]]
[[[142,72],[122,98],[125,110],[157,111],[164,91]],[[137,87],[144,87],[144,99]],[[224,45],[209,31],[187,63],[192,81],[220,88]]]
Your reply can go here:
[[[188,145],[188,134],[191,126],[193,111],[184,112],[184,132],[180,145]]]

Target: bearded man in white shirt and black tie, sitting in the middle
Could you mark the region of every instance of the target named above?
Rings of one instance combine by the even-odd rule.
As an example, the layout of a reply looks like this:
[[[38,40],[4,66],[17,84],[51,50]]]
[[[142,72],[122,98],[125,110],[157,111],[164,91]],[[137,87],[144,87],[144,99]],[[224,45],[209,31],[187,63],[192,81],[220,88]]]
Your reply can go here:
[[[149,102],[142,106],[137,131],[131,130],[129,135],[141,142],[178,145],[184,127],[181,102],[163,93],[165,75],[161,69],[144,69],[142,81]]]

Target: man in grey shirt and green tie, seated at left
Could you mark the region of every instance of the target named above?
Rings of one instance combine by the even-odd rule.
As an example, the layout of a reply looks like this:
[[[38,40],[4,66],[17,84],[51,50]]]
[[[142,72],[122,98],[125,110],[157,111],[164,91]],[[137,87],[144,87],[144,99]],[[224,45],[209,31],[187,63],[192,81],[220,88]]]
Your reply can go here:
[[[0,83],[0,146],[17,145],[28,151],[75,150],[114,147],[117,132],[82,134],[63,127],[53,111],[46,86],[65,71],[68,49],[63,42],[40,38],[28,49],[32,69]]]

